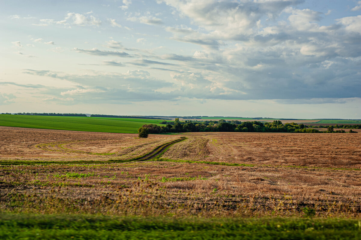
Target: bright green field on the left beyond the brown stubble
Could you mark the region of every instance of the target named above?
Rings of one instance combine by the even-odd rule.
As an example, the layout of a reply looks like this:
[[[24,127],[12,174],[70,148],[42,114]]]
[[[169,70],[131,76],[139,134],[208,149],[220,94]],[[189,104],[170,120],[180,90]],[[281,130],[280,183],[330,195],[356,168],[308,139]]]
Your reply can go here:
[[[163,120],[113,117],[64,117],[0,114],[0,126],[42,128],[107,133],[137,133],[144,124],[159,124]]]

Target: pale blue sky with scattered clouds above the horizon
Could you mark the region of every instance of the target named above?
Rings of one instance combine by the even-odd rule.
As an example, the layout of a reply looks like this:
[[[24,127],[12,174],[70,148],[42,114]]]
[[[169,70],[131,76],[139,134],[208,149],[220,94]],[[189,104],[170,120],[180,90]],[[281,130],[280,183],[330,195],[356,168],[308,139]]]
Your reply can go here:
[[[361,119],[361,1],[0,3],[0,112]]]

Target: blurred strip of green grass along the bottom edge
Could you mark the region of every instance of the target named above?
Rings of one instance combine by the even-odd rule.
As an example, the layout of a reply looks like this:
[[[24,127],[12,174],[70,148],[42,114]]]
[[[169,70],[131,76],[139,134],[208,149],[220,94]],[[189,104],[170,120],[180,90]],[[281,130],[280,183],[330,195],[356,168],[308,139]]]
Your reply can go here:
[[[360,239],[357,219],[0,216],[0,239]]]

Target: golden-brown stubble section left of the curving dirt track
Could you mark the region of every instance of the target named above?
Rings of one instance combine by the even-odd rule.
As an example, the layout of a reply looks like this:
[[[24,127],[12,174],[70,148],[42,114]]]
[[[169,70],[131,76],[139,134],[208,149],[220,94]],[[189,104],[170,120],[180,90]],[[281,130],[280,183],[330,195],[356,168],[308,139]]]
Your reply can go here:
[[[175,135],[95,133],[0,126],[0,157],[64,160],[74,157],[92,160],[131,159],[155,147],[178,139]]]

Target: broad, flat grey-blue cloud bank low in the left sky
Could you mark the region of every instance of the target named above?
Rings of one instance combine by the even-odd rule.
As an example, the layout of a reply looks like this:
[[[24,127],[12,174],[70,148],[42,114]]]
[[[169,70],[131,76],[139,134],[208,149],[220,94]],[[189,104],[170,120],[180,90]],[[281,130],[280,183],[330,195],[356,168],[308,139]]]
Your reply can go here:
[[[43,101],[56,101],[65,105],[78,103],[119,104],[175,99],[173,94],[158,90],[172,87],[173,83],[156,79],[149,72],[142,70],[127,71],[123,74],[92,72],[85,75],[69,75],[49,70],[28,69],[25,73],[67,80],[77,84],[76,88],[45,88],[40,93],[37,93],[37,95],[47,95],[47,97],[43,98]]]

